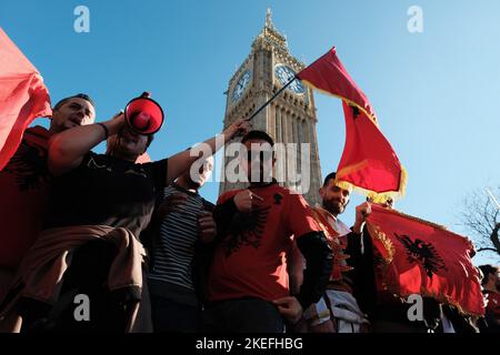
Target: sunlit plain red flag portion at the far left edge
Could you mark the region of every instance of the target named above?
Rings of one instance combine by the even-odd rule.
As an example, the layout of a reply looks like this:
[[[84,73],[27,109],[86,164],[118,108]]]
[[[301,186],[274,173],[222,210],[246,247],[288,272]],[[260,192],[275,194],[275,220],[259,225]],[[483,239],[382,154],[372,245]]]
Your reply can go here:
[[[0,28],[0,171],[38,116],[52,114],[49,92],[37,69]]]

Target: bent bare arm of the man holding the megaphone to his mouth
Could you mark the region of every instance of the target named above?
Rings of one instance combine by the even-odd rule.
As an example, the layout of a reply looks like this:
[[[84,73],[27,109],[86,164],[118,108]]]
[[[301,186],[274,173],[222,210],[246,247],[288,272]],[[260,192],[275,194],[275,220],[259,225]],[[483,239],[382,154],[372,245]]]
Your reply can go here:
[[[124,116],[119,113],[102,124],[108,128],[109,135],[116,134],[123,126]],[[104,138],[106,132],[99,124],[80,125],[56,134],[49,143],[50,173],[58,176],[79,166],[83,156]]]

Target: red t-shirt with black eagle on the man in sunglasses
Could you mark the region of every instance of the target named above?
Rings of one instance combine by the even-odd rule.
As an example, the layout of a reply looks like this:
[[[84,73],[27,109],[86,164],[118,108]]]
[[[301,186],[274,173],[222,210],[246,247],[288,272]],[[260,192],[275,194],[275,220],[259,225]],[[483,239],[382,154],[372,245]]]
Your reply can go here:
[[[211,302],[288,296],[287,253],[291,251],[292,236],[321,231],[302,195],[276,182],[249,190],[263,201],[253,199],[251,213],[232,216],[213,256],[209,276]],[[222,194],[217,204],[240,191]]]

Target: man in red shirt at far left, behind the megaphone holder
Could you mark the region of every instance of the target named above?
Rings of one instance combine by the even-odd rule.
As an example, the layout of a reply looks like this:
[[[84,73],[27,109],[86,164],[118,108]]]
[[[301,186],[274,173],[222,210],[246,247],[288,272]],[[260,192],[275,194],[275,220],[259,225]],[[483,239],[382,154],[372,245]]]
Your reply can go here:
[[[94,119],[94,103],[88,95],[62,99],[53,108],[49,130],[41,125],[27,129],[19,149],[0,171],[0,302],[47,213],[49,139],[70,128],[93,123]]]

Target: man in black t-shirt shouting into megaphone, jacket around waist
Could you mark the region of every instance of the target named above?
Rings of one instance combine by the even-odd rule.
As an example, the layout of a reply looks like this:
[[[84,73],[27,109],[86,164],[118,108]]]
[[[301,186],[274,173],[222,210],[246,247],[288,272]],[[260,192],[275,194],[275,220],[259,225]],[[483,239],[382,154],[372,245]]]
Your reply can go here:
[[[190,150],[183,150],[160,161],[136,163],[151,143],[152,134],[149,131],[142,134],[131,128],[126,113],[102,123],[73,128],[51,140],[48,166],[54,176],[54,187],[49,217],[21,265],[18,284],[24,287],[17,296],[23,302],[13,302],[13,307],[0,310],[0,322],[2,313],[11,312],[12,315],[16,312],[22,317],[22,331],[40,331],[36,327],[43,324],[51,324],[51,329],[57,331],[58,321],[50,320],[54,314],[51,307],[56,305],[53,308],[59,308],[57,304],[63,293],[61,284],[64,277],[86,275],[86,283],[93,278],[98,282],[98,274],[86,267],[93,270],[99,265],[98,255],[104,253],[92,252],[87,254],[87,258],[81,254],[76,257],[82,246],[91,241],[94,244],[100,242],[108,248],[111,245],[109,273],[101,275],[103,282],[99,285],[107,284],[112,295],[101,303],[102,314],[92,315],[90,323],[80,323],[89,327],[93,322],[92,331],[139,329],[136,321],[141,316],[140,301],[146,290],[142,280],[146,253],[138,236],[150,222],[157,193],[188,171],[198,156],[191,156]],[[226,143],[248,129],[247,121],[237,120],[222,132],[223,140],[219,138],[217,142]],[[106,154],[93,153],[91,150],[104,140],[108,140]],[[213,153],[221,148],[216,146],[219,145],[216,138],[204,143]],[[79,260],[80,266],[83,266],[84,271],[80,274],[67,273],[76,260]],[[72,280],[71,284],[79,286],[83,281]],[[94,308],[98,302],[92,298]],[[79,329],[82,325],[73,322],[70,326]],[[71,331],[68,324],[60,327]]]

